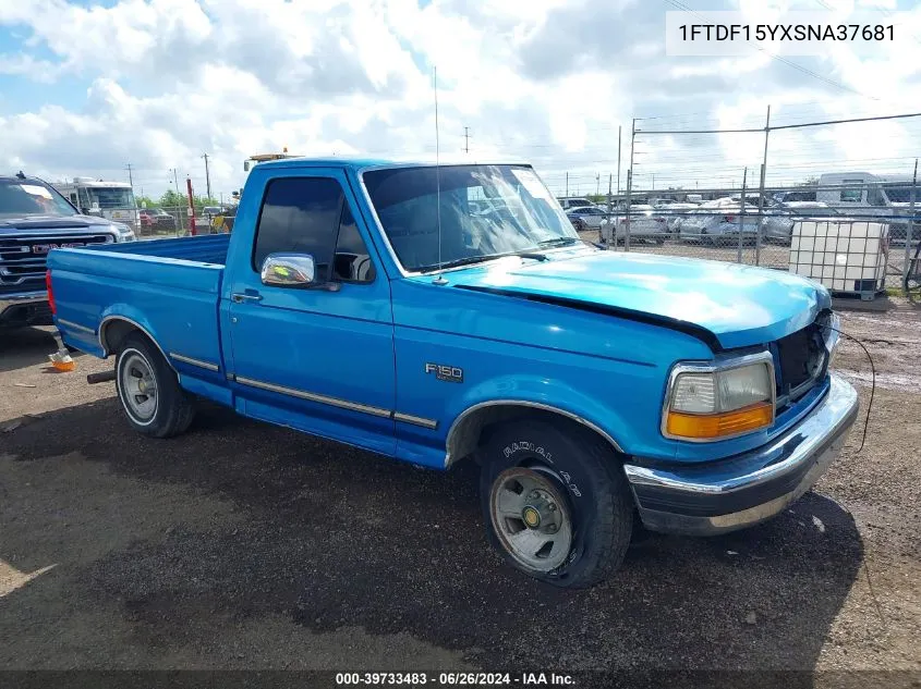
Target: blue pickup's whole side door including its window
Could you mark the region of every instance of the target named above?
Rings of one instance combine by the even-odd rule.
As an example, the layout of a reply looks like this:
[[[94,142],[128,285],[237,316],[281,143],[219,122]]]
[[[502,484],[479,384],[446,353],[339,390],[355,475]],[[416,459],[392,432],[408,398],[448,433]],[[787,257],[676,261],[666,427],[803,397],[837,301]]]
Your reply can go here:
[[[229,257],[222,302],[238,408],[393,454],[390,286],[348,181],[317,169],[260,177],[262,189],[259,177],[247,186],[262,195],[252,254]],[[311,255],[315,284],[264,284],[263,262],[279,253]]]

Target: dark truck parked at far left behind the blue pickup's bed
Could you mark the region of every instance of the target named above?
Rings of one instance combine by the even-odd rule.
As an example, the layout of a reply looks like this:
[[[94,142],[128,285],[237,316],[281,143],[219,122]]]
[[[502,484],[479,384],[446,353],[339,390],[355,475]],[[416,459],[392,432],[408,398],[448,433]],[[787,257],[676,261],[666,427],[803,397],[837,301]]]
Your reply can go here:
[[[0,327],[51,323],[45,285],[51,249],[134,238],[123,223],[81,214],[43,180],[0,176]]]

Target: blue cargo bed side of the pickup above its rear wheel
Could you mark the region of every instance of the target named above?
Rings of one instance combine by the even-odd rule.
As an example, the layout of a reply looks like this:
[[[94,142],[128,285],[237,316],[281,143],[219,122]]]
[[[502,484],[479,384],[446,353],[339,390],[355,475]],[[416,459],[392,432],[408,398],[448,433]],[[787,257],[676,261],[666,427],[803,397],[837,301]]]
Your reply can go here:
[[[112,354],[105,323],[123,319],[144,329],[169,357],[222,368],[218,304],[229,238],[52,250],[48,268],[64,342],[96,356]]]

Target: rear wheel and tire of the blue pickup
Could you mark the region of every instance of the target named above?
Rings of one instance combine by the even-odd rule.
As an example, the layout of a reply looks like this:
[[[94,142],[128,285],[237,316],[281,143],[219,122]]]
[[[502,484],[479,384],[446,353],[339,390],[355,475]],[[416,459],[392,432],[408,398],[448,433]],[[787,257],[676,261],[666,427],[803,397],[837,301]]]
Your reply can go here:
[[[116,390],[128,422],[144,435],[178,435],[195,416],[192,399],[179,385],[175,371],[160,350],[137,332],[128,335],[119,348]]]

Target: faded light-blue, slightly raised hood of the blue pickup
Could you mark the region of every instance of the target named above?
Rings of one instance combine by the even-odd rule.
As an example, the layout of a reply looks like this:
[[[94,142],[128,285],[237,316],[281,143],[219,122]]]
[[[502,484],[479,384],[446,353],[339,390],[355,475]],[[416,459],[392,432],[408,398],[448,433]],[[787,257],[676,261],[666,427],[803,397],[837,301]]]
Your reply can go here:
[[[582,249],[548,256],[540,262],[509,257],[445,278],[455,287],[669,324],[724,349],[778,340],[831,308],[821,284],[776,270]]]

